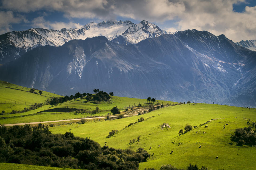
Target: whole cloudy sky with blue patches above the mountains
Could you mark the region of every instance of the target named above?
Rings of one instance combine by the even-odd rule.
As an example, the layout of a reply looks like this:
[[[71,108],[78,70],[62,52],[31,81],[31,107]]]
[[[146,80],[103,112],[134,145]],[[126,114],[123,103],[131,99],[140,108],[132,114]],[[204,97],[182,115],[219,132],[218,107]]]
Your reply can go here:
[[[147,20],[166,31],[205,30],[256,40],[256,0],[1,0],[0,34],[80,28],[103,20]]]

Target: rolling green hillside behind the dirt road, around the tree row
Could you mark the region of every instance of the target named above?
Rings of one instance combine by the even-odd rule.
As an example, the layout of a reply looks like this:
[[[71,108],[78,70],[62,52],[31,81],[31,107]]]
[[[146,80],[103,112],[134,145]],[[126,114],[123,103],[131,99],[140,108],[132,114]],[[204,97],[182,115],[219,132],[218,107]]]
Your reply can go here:
[[[1,84],[2,83],[2,84]],[[94,101],[87,101],[86,99],[77,99],[58,104],[56,106],[44,105],[35,110],[31,110],[23,113],[8,114],[12,110],[23,110],[25,107],[30,107],[34,103],[44,103],[47,99],[53,96],[60,97],[59,95],[44,92],[43,94],[37,95],[28,92],[29,88],[22,86],[1,82],[0,83],[0,112],[5,111],[4,115],[0,115],[0,124],[13,124],[13,123],[24,123],[24,122],[39,122],[39,121],[54,121],[54,120],[67,120],[75,118],[83,118],[87,116],[106,116],[111,113],[110,110],[117,106],[121,111],[124,111],[125,107],[130,108],[134,105],[142,104],[147,105],[146,99],[135,99],[129,97],[115,97],[110,102],[102,101],[96,103]],[[10,88],[9,88],[10,87]],[[27,89],[23,91],[23,89]],[[47,94],[46,96],[43,96]],[[48,95],[49,94],[49,95]],[[1,101],[2,104],[1,104]],[[5,103],[6,101],[6,103]],[[16,104],[15,104],[16,102]],[[176,102],[157,100],[155,104],[175,104]],[[25,105],[26,104],[26,105]],[[91,111],[99,107],[99,111],[96,114],[92,114]],[[77,114],[76,109],[86,111],[86,113]]]

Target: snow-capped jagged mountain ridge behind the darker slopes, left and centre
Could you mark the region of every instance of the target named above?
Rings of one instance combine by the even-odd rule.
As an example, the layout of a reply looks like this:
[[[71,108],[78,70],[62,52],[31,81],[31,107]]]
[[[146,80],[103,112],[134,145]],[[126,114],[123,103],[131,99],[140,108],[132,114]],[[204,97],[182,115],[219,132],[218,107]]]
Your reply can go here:
[[[117,20],[91,22],[79,29],[31,28],[26,31],[13,31],[0,35],[0,63],[15,60],[37,46],[61,46],[74,39],[85,40],[88,37],[105,36],[119,44],[136,44],[148,37],[166,33],[168,32],[145,20],[138,24]]]

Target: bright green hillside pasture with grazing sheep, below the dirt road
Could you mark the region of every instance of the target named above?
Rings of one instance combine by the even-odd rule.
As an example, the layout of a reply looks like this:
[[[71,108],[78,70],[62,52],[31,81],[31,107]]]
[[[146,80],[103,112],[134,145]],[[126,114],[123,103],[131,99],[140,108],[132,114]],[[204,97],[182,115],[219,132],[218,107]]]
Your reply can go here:
[[[145,121],[125,128],[140,117],[144,117]],[[209,122],[208,128],[201,126],[183,135],[178,133],[186,124],[198,126],[211,119],[217,120]],[[106,144],[110,147],[133,150],[142,147],[150,154],[154,153],[147,162],[140,163],[139,169],[160,168],[162,164],[186,168],[189,163],[198,164],[200,167],[204,165],[211,169],[254,169],[256,162],[252,160],[256,160],[256,148],[236,146],[230,138],[235,129],[245,127],[247,121],[256,121],[255,109],[214,104],[184,104],[166,107],[142,116],[55,126],[50,130],[63,134],[71,129],[75,135],[90,137],[101,146]],[[163,123],[168,123],[171,128],[161,130],[160,126]],[[223,129],[226,123],[229,125]],[[113,129],[118,130],[118,133],[106,138]],[[139,141],[129,142],[139,135]],[[199,145],[202,147],[199,148]],[[172,150],[173,153],[170,154]],[[216,160],[216,156],[219,159]]]

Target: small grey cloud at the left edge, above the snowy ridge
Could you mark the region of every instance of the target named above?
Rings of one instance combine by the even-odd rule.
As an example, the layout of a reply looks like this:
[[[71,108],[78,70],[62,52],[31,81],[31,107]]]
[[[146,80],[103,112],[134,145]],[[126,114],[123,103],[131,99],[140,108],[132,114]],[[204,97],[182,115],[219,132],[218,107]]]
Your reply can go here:
[[[17,24],[21,21],[27,22],[24,16],[14,16],[12,11],[0,11],[0,34],[12,31],[11,24]]]

